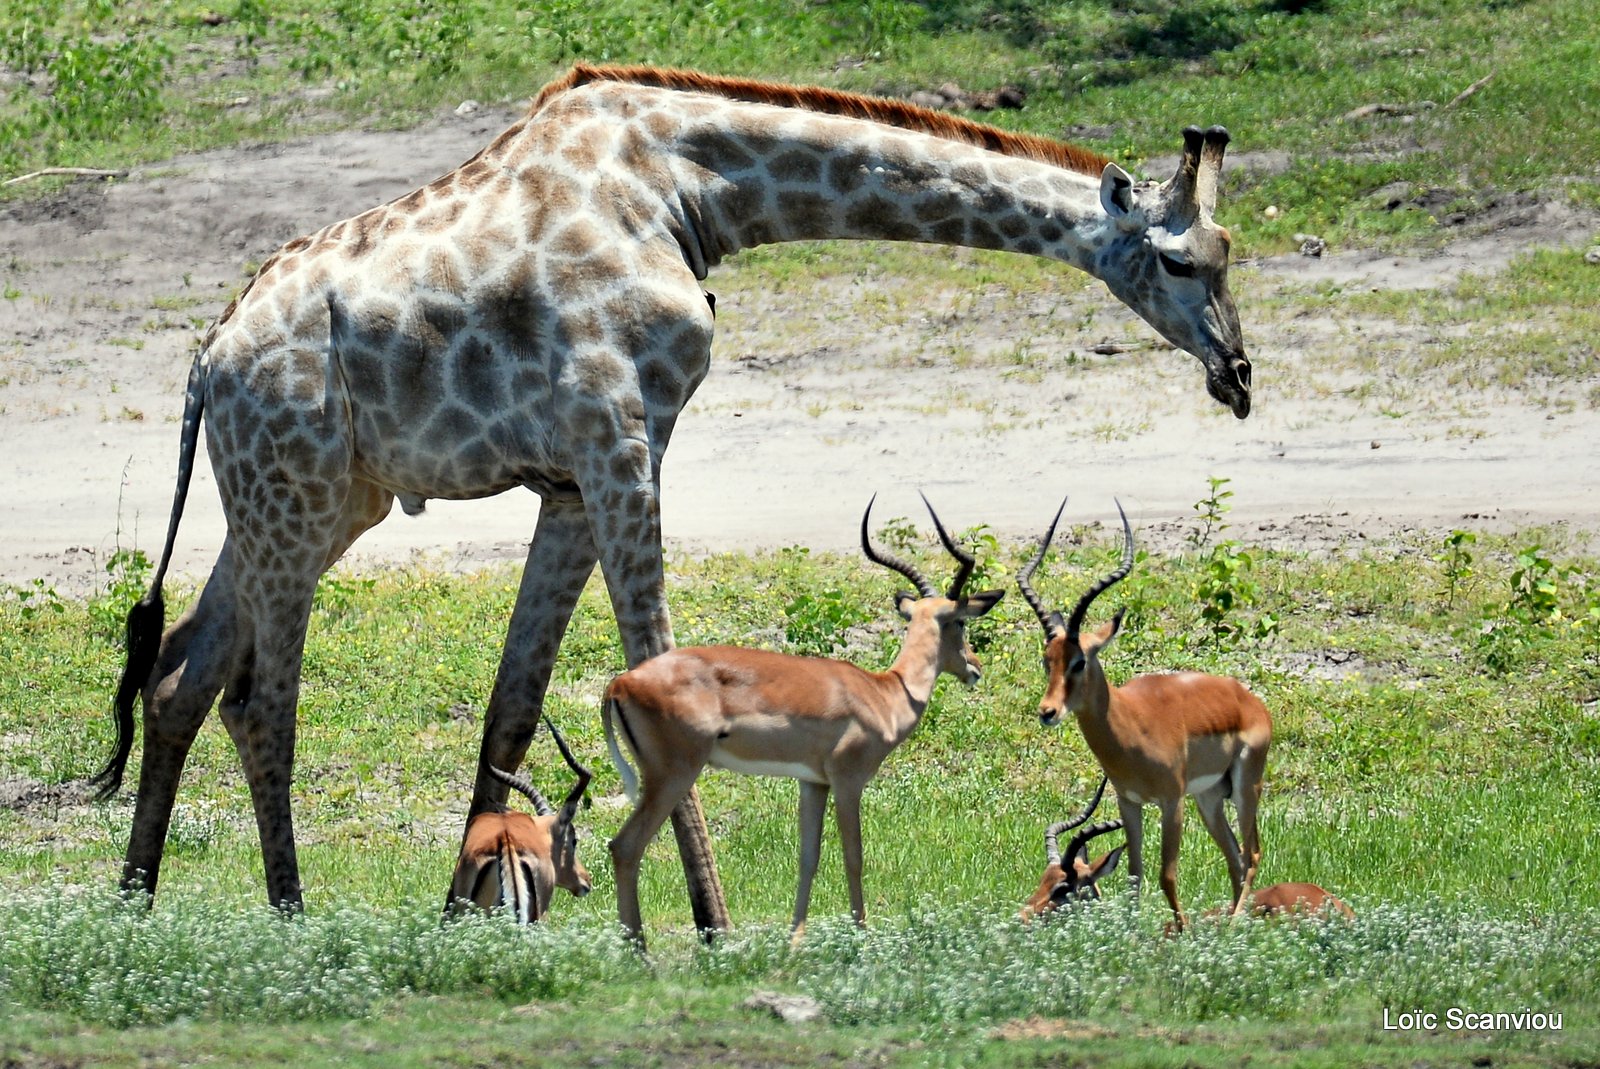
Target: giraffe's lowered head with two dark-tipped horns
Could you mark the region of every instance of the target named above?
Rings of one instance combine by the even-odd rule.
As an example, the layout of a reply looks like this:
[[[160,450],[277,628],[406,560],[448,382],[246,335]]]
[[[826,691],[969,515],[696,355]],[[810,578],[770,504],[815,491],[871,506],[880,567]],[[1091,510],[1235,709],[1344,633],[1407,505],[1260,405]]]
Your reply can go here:
[[[1115,163],[1101,173],[1112,229],[1096,274],[1166,341],[1205,365],[1206,390],[1250,414],[1250,357],[1227,291],[1227,227],[1211,221],[1227,131],[1184,130],[1184,155],[1166,182],[1134,182]]]

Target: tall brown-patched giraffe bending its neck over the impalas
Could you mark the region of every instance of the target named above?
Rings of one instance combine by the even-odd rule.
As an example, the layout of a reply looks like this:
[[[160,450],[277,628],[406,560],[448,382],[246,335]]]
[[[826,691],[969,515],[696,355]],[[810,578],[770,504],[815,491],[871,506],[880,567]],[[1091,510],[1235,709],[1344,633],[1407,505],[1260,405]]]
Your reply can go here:
[[[301,907],[290,781],[317,578],[395,499],[514,486],[541,507],[490,695],[470,816],[504,802],[557,648],[600,567],[630,666],[672,648],[659,470],[710,365],[706,274],[806,238],[1046,256],[1101,278],[1243,419],[1250,360],[1211,219],[1227,131],[1134,182],[1077,146],[834,90],[578,64],[443,178],[267,258],[202,341],[150,591],[128,615],[122,783],[144,755],[123,885],[155,893],[179,775],[213,704],[238,751],[267,899]],[[162,584],[202,427],[227,536],[163,634]],[[221,695],[221,701],[218,696]],[[694,923],[726,927],[696,795],[674,813]]]

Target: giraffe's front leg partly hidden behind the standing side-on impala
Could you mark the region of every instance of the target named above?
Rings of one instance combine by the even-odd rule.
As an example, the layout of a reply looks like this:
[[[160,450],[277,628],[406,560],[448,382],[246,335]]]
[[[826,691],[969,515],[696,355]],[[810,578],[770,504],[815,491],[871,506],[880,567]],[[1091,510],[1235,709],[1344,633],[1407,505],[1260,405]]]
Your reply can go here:
[[[584,504],[589,528],[622,632],[622,650],[632,667],[674,645],[661,557],[658,464],[643,440],[627,437],[610,451],[592,456],[587,472]],[[691,789],[672,810],[672,834],[683,858],[694,928],[709,939],[728,928],[728,906],[698,789]]]

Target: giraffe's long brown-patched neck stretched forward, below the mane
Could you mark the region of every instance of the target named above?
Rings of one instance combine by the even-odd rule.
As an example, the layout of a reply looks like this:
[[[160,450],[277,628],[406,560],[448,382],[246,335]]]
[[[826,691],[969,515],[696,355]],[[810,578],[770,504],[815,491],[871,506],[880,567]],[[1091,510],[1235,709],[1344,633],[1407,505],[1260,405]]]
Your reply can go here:
[[[630,171],[698,277],[744,248],[821,238],[1006,250],[1096,274],[1114,237],[1096,176],[862,118],[594,83],[530,122],[566,125],[590,139],[586,160]]]

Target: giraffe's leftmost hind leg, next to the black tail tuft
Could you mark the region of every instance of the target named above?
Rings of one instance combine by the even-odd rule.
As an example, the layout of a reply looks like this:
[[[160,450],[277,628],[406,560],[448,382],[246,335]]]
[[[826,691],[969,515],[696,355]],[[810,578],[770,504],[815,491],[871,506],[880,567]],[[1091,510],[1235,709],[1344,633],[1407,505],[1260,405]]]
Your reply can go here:
[[[232,549],[224,539],[200,599],[162,637],[144,687],[144,757],[122,867],[123,890],[155,895],[178,781],[216,695],[238,671],[248,635],[240,631]]]

